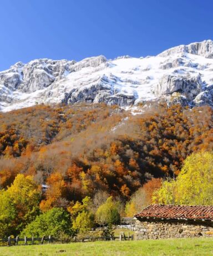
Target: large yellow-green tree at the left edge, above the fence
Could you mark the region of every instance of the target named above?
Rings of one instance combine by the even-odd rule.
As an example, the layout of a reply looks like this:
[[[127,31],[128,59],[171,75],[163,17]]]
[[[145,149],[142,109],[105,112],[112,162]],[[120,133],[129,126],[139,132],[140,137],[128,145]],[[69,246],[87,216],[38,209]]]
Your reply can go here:
[[[39,213],[40,188],[32,176],[18,174],[7,190],[0,191],[2,235],[18,234]]]

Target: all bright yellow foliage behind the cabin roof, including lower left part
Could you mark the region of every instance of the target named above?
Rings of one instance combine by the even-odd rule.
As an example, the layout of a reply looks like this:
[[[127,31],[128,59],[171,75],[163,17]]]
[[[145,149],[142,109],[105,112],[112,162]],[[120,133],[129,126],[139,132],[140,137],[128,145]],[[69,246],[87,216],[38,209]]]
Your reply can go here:
[[[213,152],[188,156],[176,181],[164,181],[153,196],[155,203],[212,205]]]

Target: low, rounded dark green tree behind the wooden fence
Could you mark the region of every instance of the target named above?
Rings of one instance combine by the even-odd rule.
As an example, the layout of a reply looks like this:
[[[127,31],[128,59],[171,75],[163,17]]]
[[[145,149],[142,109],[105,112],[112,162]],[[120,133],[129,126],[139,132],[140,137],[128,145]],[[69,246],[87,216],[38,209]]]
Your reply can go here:
[[[21,232],[21,236],[41,237],[42,235],[53,235],[58,237],[60,233],[72,234],[72,223],[70,215],[63,208],[52,208],[36,217]]]

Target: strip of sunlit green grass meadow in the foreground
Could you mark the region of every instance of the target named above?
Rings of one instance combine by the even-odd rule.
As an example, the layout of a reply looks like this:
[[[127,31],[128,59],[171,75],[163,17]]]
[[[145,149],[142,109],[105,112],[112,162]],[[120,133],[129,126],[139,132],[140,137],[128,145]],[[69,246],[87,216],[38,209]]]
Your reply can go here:
[[[145,241],[109,241],[71,244],[20,245],[1,247],[1,256],[47,255],[213,255],[213,239],[174,239]]]

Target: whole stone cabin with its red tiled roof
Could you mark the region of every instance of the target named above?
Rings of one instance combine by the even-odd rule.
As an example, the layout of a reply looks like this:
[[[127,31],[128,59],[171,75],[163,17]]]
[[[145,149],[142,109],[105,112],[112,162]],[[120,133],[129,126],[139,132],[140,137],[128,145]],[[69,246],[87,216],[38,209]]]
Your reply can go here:
[[[213,237],[213,206],[152,204],[135,219],[136,240]]]

